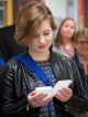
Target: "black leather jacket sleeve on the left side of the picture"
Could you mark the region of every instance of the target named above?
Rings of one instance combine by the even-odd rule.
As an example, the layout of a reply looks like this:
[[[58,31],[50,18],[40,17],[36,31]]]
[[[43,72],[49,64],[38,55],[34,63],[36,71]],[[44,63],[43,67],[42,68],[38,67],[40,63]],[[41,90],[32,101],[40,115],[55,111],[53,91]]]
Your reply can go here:
[[[26,96],[16,100],[14,91],[14,72],[7,65],[0,68],[0,113],[10,115],[26,107]]]

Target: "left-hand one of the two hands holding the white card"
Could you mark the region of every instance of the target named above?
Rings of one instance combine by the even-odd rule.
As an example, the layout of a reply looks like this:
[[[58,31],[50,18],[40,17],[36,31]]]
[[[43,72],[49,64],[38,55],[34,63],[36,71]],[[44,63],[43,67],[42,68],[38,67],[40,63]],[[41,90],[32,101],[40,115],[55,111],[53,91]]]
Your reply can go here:
[[[53,97],[50,97],[47,94],[43,94],[43,93],[38,94],[36,91],[33,91],[32,93],[30,93],[28,95],[29,104],[32,107],[44,106],[45,104],[47,104],[52,99],[53,99]]]

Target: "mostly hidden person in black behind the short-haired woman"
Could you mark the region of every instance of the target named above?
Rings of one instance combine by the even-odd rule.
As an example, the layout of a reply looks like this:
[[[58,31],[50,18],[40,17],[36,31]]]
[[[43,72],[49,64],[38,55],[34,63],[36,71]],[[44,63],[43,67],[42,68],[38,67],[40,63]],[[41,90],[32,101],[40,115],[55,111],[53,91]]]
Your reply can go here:
[[[45,3],[44,0],[19,0],[19,10],[21,10],[24,6],[26,6],[30,2],[38,2],[38,3]],[[3,43],[1,46],[1,53],[2,57],[4,59],[4,62],[9,61],[12,56],[26,52],[28,49],[24,45],[19,45],[14,40],[14,33],[15,33],[15,24],[4,26],[0,29],[0,40],[1,43]],[[3,51],[4,50],[4,51]],[[4,55],[6,54],[6,55]]]

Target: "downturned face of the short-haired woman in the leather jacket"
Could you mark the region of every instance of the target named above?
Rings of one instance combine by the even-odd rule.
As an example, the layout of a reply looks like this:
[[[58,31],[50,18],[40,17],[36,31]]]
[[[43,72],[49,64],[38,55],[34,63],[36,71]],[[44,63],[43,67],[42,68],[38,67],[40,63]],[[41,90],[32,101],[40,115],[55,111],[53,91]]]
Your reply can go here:
[[[30,42],[29,49],[34,53],[45,53],[48,51],[53,43],[53,30],[47,20],[43,21],[36,30],[32,41]]]

